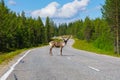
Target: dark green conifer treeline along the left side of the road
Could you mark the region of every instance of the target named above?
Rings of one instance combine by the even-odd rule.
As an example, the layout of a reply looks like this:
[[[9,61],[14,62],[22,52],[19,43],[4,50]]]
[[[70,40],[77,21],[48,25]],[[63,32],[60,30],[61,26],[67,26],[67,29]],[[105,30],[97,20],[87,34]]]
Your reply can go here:
[[[5,6],[4,0],[0,1],[0,52],[45,44],[56,34],[54,27],[49,17],[44,25],[40,17],[16,14]]]

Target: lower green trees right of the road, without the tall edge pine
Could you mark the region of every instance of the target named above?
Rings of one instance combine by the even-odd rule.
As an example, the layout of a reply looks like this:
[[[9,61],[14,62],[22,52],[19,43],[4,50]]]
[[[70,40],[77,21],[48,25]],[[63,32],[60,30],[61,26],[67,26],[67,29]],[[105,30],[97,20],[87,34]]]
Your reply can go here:
[[[81,40],[86,40],[99,49],[106,51],[113,50],[113,37],[111,29],[104,19],[97,18],[91,20],[86,17],[85,20],[71,22],[68,25],[59,26],[59,34],[72,34]]]

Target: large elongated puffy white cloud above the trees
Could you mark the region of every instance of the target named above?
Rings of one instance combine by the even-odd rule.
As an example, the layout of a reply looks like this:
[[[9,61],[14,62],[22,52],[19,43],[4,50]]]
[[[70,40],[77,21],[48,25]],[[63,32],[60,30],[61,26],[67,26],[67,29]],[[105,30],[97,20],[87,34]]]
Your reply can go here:
[[[31,13],[33,17],[52,17],[52,18],[71,18],[74,17],[79,11],[85,10],[89,0],[74,0],[60,7],[57,2],[52,2],[46,7],[35,10]]]

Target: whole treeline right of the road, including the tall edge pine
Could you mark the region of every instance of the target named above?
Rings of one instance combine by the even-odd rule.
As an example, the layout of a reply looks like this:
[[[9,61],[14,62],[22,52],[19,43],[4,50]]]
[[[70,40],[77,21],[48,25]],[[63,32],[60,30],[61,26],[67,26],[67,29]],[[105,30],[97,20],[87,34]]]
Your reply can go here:
[[[120,54],[120,0],[105,0],[102,18],[78,20],[60,25],[60,34],[72,34],[105,51]],[[63,27],[62,27],[63,26]],[[65,31],[66,30],[66,31]],[[62,32],[63,31],[63,32]]]

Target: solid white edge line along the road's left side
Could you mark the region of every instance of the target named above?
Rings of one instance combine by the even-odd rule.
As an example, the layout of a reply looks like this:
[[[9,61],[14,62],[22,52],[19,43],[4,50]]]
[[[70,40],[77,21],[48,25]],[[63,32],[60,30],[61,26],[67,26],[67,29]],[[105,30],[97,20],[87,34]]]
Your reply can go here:
[[[14,70],[15,66],[30,52],[31,50],[28,50],[21,58],[17,60],[15,64],[13,64],[10,69],[0,78],[0,80],[6,80],[7,77],[12,73]]]

